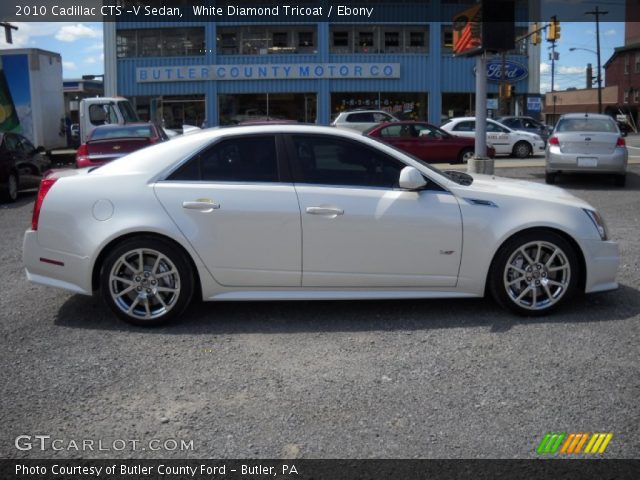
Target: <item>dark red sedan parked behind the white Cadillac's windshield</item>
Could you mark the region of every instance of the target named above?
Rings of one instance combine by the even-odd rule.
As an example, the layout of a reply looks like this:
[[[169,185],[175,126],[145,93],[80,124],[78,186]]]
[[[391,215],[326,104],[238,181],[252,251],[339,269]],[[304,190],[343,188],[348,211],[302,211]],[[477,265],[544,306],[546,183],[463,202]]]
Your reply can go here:
[[[474,152],[473,138],[456,137],[425,122],[382,123],[365,135],[429,163],[466,163]],[[487,146],[487,155],[493,158],[495,153]]]

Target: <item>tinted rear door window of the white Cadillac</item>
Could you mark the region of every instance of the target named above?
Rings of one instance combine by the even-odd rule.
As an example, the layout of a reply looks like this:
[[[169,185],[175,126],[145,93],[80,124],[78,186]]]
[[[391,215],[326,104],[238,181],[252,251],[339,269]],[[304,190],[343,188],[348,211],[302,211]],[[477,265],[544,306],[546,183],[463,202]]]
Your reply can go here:
[[[275,137],[222,140],[197,154],[169,180],[205,182],[277,182]]]

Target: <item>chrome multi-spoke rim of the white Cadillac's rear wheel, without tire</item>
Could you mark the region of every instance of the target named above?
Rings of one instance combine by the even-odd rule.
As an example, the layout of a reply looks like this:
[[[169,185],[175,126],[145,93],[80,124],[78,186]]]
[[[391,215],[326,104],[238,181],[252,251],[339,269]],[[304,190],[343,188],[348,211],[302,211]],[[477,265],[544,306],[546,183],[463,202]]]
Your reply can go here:
[[[126,315],[150,320],[166,315],[180,295],[180,274],[162,253],[140,248],[120,256],[109,272],[109,293]]]

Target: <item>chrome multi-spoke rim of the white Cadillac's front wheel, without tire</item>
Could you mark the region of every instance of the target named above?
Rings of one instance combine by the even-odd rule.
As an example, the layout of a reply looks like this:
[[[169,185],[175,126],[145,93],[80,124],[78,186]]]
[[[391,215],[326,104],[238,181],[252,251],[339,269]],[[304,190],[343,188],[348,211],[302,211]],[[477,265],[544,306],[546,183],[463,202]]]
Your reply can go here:
[[[507,295],[519,307],[544,310],[566,294],[571,281],[567,255],[550,242],[537,241],[515,250],[504,269]]]

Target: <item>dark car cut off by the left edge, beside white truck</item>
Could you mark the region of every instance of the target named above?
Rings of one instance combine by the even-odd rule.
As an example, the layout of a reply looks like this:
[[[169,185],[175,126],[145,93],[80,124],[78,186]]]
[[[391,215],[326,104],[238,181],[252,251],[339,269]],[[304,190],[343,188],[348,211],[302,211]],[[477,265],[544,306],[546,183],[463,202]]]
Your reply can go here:
[[[43,155],[44,148],[35,148],[17,133],[0,133],[0,198],[15,202],[18,190],[36,188],[42,174],[51,166]]]

